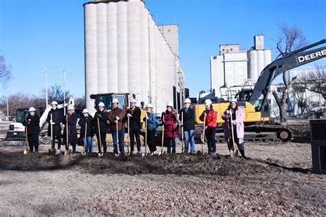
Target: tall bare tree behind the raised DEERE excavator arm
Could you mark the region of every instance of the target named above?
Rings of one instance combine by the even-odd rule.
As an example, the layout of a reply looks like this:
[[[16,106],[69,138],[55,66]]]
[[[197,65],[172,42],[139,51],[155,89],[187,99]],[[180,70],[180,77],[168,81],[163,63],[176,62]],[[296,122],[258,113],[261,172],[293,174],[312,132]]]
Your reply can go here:
[[[303,48],[305,45],[307,45],[307,39],[303,35],[303,32],[300,28],[296,27],[295,25],[290,27],[285,22],[280,23],[279,28],[281,34],[279,35],[276,42],[277,49],[279,50],[281,56],[287,56],[294,50]],[[286,98],[292,83],[294,83],[296,80],[296,77],[287,80],[285,74],[286,72],[283,73],[283,83],[285,88],[282,92],[281,99],[276,92],[272,92],[276,103],[279,106],[281,122],[287,121],[287,113],[285,108]]]

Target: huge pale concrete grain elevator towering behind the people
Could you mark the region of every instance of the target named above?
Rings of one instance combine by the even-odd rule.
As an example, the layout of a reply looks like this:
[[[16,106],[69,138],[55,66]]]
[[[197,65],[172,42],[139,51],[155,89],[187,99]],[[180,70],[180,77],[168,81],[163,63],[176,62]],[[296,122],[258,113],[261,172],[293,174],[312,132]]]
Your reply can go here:
[[[90,1],[85,13],[85,96],[130,93],[154,111],[184,99],[178,26],[157,25],[141,0]]]

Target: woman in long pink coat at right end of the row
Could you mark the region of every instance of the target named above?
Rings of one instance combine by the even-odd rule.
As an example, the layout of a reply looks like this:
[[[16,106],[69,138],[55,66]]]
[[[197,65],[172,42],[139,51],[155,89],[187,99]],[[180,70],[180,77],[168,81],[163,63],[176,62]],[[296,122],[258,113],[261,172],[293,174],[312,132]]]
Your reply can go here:
[[[244,113],[241,107],[237,105],[237,99],[231,99],[230,105],[226,111],[222,114],[224,120],[224,138],[228,141],[228,149],[230,152],[235,151],[234,142],[237,143],[239,152],[243,158],[247,158],[244,153],[243,136],[244,136]],[[235,141],[232,140],[232,131]],[[237,151],[237,150],[236,150]]]

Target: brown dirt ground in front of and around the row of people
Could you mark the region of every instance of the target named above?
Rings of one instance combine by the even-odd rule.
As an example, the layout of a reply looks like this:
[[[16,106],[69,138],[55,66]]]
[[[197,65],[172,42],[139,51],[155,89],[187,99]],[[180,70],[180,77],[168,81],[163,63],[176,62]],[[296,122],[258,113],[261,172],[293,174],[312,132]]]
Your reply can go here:
[[[0,147],[0,216],[326,215],[326,176],[312,173],[307,139],[246,143],[248,160],[230,158],[225,143],[212,156],[50,156],[48,147]]]

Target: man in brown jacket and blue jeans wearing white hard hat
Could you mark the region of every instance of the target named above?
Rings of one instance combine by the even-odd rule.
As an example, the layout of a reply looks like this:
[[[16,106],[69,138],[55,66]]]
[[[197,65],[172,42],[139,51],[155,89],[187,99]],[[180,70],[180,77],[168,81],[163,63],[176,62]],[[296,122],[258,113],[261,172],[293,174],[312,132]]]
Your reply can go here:
[[[113,153],[118,154],[119,151],[124,155],[124,110],[120,109],[118,99],[112,100],[112,110],[107,115],[107,120],[110,122],[110,130],[113,138]],[[118,128],[117,128],[118,127]],[[118,131],[118,138],[117,138]]]

